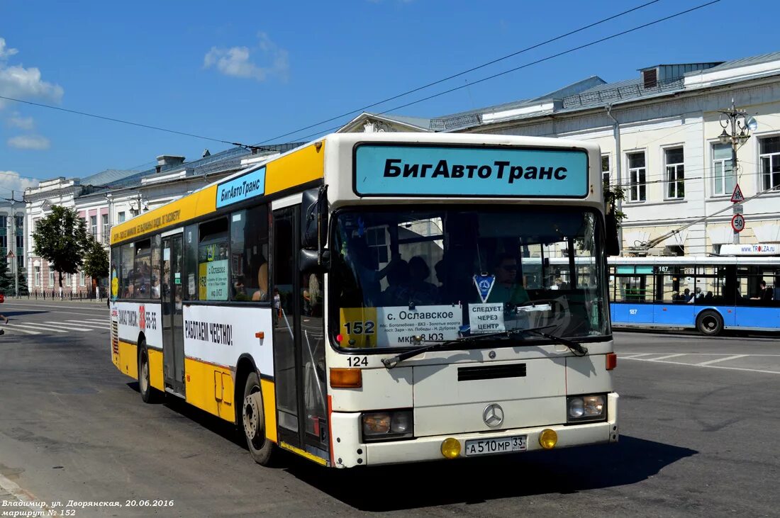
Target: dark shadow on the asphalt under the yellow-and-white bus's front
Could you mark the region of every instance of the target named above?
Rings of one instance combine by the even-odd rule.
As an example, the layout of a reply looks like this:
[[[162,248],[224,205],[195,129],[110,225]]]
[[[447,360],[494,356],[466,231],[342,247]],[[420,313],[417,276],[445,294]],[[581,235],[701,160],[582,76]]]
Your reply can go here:
[[[352,470],[296,459],[286,470],[355,509],[387,512],[629,485],[696,453],[622,435],[613,445]]]

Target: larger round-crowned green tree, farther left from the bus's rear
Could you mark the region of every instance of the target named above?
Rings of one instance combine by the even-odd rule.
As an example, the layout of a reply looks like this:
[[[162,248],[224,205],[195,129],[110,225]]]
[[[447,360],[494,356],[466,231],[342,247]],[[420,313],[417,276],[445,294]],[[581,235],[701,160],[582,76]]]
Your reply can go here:
[[[33,232],[33,252],[46,259],[59,273],[78,273],[87,248],[87,223],[75,210],[60,205],[51,207],[51,214],[41,218]]]

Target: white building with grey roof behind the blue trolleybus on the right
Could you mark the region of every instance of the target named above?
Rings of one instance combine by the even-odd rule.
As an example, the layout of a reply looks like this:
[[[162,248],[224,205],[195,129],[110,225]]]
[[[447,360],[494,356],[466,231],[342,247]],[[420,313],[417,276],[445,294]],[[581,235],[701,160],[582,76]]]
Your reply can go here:
[[[723,130],[719,111],[728,109],[732,99],[758,123],[737,152],[737,171],[732,171],[731,146],[718,141]],[[780,185],[780,52],[731,62],[654,65],[619,83],[594,76],[541,97],[440,118],[363,113],[340,131],[484,132],[595,141],[603,153],[605,178],[626,189],[624,251],[694,223],[650,253],[732,254],[734,247],[722,247],[735,241],[734,185],[739,182],[746,198]],[[780,190],[743,204],[741,244],[780,244],[778,202]],[[745,248],[742,253],[758,249]]]

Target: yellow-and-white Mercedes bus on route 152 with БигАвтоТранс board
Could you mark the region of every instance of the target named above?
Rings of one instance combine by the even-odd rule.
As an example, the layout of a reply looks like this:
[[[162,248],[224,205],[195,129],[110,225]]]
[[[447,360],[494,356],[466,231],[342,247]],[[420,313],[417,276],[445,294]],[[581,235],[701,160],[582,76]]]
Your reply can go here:
[[[569,140],[377,133],[247,167],[112,229],[112,361],[261,464],[615,442],[599,164]]]

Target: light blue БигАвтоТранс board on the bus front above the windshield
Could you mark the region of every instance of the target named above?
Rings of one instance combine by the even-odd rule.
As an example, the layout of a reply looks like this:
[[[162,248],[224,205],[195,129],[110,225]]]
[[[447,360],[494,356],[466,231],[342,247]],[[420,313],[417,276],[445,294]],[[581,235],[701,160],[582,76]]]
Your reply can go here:
[[[361,196],[584,198],[588,192],[584,150],[363,144],[354,168]]]

